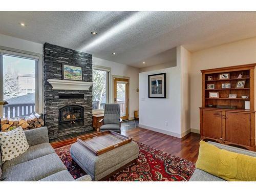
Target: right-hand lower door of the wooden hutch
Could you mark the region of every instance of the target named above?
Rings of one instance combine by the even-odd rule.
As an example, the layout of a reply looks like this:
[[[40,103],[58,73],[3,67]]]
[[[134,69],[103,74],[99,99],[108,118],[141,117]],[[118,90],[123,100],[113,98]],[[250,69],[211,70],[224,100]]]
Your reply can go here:
[[[226,112],[226,141],[250,146],[250,114]]]

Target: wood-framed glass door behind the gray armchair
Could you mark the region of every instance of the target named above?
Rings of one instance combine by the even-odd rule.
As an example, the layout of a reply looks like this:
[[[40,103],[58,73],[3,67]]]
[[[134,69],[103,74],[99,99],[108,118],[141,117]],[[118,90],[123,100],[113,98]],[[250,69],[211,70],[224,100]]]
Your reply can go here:
[[[114,103],[120,105],[122,120],[129,119],[129,79],[114,77]]]

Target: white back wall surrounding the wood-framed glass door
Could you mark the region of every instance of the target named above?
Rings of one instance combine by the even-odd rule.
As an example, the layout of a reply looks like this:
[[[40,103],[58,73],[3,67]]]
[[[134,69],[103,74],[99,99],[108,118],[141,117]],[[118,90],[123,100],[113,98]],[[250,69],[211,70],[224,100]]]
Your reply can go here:
[[[134,110],[139,109],[139,69],[126,66],[121,63],[93,57],[93,65],[111,68],[112,75],[120,77],[130,77],[129,84],[129,119],[134,118]],[[111,92],[113,95],[113,82],[111,82]],[[113,98],[113,97],[112,97]],[[112,100],[113,102],[113,100]]]

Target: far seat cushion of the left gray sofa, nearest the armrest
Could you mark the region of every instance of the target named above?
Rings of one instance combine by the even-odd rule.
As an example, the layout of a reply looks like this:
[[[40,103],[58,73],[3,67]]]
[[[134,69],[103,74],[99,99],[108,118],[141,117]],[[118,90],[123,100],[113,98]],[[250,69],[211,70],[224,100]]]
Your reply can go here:
[[[36,159],[38,157],[42,157],[52,153],[55,153],[55,151],[50,145],[50,143],[41,143],[30,146],[24,154],[3,163],[3,172],[5,172],[5,170],[11,166],[24,163],[26,161],[30,161],[32,159]]]

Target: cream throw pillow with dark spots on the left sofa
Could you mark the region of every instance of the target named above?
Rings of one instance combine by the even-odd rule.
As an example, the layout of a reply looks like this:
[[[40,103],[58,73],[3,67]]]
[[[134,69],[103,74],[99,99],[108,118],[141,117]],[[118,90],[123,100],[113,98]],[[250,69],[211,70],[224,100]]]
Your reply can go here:
[[[23,154],[29,148],[22,127],[9,132],[0,132],[0,144],[3,163]]]

